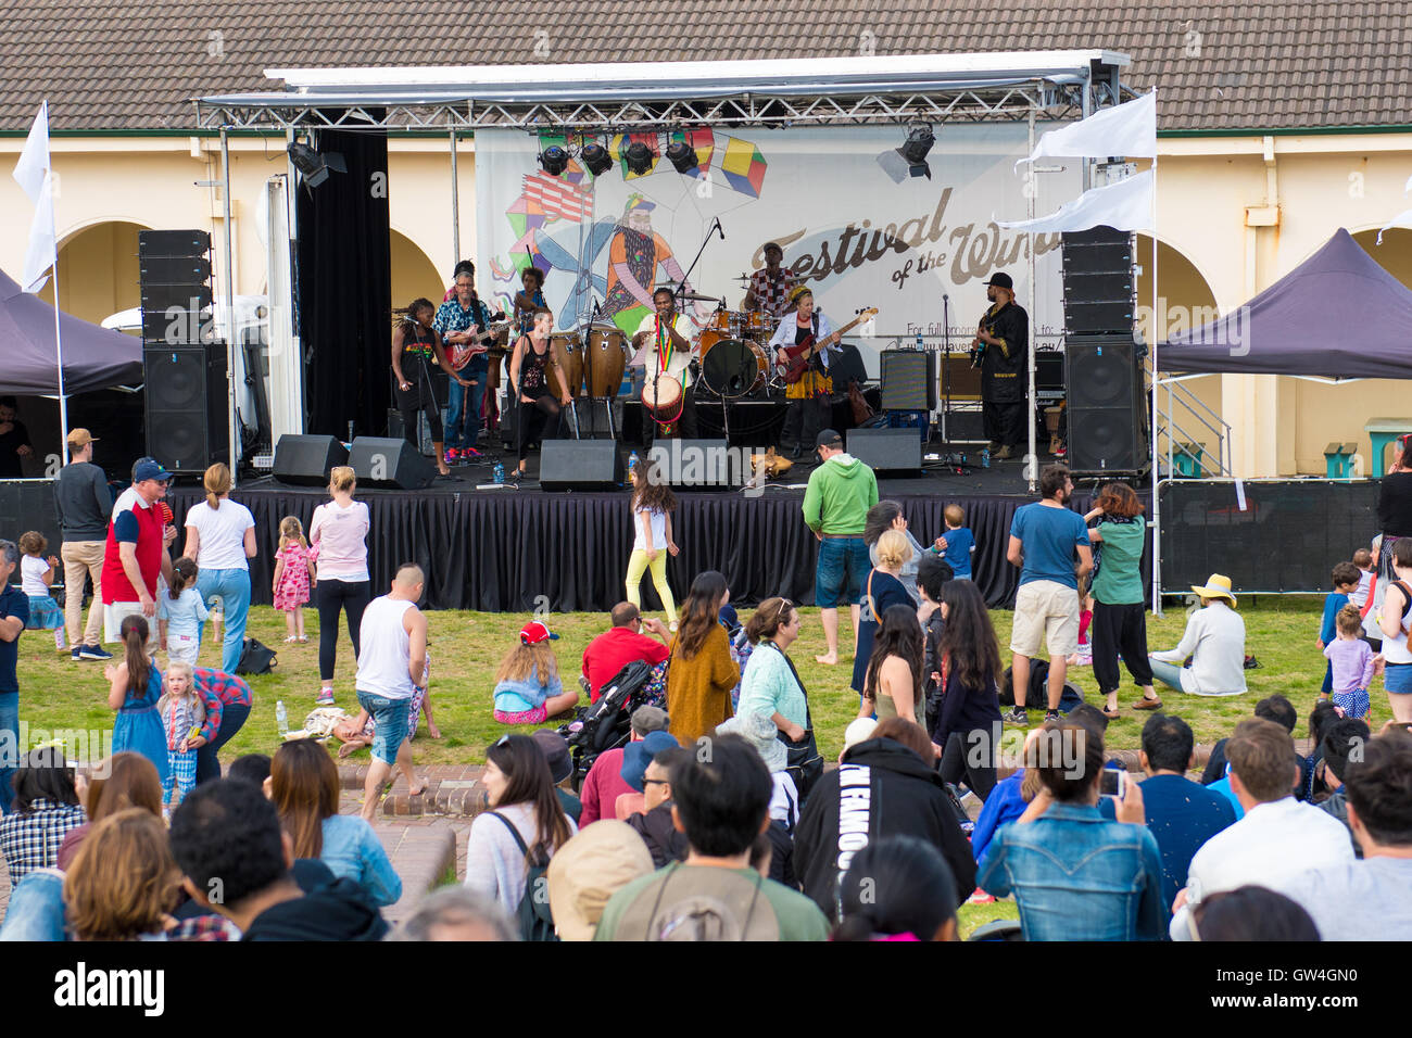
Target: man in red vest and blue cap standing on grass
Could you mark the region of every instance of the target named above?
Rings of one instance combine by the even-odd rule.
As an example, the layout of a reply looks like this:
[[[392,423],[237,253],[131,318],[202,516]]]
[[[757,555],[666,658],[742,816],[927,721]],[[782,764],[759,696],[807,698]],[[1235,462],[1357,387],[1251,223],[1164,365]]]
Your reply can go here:
[[[119,628],[128,616],[145,616],[148,651],[157,651],[157,576],[171,582],[165,517],[157,503],[167,496],[171,473],[151,459],[133,469],[131,508],[117,513],[107,525],[103,551],[103,640],[120,641]],[[112,578],[106,576],[112,573]]]

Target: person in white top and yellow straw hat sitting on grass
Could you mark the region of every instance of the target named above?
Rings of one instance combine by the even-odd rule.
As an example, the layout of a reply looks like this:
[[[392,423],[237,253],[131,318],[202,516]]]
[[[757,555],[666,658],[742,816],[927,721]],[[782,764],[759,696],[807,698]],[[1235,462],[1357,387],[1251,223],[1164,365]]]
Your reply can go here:
[[[1236,612],[1231,579],[1211,573],[1203,587],[1192,586],[1202,607],[1186,621],[1176,648],[1151,652],[1152,676],[1193,696],[1245,693],[1245,621]],[[1190,660],[1190,667],[1183,664]]]

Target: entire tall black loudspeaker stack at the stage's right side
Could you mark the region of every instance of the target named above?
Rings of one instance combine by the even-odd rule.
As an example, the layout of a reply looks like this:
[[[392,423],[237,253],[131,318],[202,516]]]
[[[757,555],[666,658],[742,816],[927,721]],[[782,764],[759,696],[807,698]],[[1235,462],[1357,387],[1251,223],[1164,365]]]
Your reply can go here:
[[[1147,467],[1135,284],[1128,232],[1094,227],[1063,236],[1067,462],[1076,473],[1137,475]]]

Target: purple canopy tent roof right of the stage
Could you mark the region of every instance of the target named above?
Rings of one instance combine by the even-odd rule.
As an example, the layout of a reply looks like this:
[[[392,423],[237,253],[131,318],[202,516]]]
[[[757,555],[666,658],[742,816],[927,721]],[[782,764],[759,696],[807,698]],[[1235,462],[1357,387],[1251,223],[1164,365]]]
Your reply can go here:
[[[1347,230],[1254,299],[1158,347],[1163,371],[1412,378],[1412,290]]]

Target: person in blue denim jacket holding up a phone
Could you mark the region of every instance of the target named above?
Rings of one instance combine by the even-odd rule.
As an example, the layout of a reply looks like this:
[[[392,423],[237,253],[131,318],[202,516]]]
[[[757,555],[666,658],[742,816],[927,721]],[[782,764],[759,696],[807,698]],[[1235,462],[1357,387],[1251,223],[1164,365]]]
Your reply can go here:
[[[1127,784],[1115,822],[1100,816],[1103,736],[1048,720],[1027,750],[1031,768],[1039,792],[991,840],[981,890],[1015,895],[1025,941],[1159,939],[1168,919],[1162,854],[1137,782]]]

